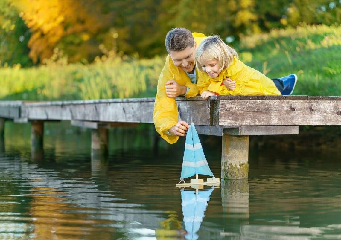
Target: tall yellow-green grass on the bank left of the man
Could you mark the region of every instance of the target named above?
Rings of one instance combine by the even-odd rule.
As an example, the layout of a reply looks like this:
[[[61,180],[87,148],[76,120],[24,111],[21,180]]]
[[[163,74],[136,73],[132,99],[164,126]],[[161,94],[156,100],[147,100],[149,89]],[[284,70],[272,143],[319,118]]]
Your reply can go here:
[[[98,57],[87,65],[66,62],[52,59],[45,65],[28,69],[2,67],[0,98],[87,100],[152,96],[164,64],[160,57],[123,60],[112,54]]]

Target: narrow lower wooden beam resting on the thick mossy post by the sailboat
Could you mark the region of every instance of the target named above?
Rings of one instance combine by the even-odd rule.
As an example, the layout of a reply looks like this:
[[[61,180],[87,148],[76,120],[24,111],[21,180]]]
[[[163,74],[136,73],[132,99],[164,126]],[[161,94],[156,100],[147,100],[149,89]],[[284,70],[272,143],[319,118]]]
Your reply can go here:
[[[196,125],[198,134],[224,135],[289,135],[298,134],[298,126],[202,126]]]

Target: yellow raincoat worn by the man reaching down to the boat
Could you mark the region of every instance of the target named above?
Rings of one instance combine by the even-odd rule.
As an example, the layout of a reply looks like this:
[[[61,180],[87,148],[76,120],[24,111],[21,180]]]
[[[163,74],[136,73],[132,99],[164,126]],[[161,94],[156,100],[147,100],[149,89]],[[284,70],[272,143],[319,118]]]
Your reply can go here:
[[[197,46],[199,46],[199,44],[206,38],[206,36],[202,33],[194,32],[192,34]],[[198,79],[198,71],[196,74]],[[174,98],[167,97],[166,94],[166,82],[168,80],[172,80],[173,75],[174,80],[179,85],[189,88],[187,94],[184,95],[185,97],[193,97],[199,93],[197,85],[191,82],[189,76],[182,69],[174,65],[172,58],[170,58],[168,55],[158,80],[157,93],[155,95],[154,103],[153,121],[156,131],[170,144],[174,144],[179,139],[178,136],[165,134],[170,127],[178,123],[178,108],[176,101]]]

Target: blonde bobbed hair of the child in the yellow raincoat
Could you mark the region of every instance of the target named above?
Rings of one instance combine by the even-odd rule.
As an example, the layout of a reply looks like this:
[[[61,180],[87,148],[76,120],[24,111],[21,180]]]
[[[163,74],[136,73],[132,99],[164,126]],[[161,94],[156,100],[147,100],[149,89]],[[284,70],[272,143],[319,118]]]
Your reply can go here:
[[[209,36],[204,39],[196,49],[196,67],[203,71],[201,64],[198,62],[199,60],[217,60],[220,64],[219,71],[222,71],[232,63],[233,56],[238,57],[235,49],[225,44],[218,35]]]

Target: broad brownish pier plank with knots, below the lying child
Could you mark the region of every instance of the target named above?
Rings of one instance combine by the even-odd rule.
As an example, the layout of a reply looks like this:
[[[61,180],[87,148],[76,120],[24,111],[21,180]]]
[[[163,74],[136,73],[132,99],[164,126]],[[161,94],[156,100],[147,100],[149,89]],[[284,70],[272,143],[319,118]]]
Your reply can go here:
[[[222,100],[218,111],[220,126],[341,125],[340,101]]]

